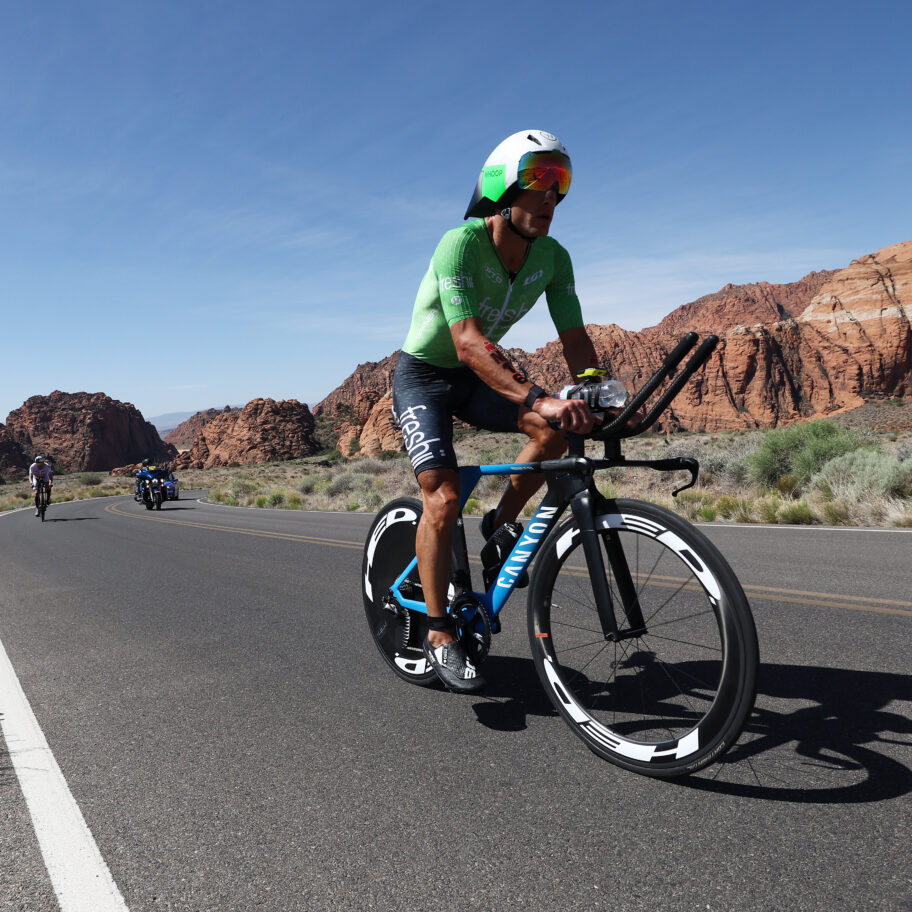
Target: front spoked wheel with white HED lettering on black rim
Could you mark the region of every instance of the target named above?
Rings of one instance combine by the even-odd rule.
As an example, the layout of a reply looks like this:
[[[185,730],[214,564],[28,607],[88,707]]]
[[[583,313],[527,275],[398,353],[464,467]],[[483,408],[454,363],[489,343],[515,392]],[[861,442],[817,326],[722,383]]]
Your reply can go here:
[[[753,708],[759,651],[747,598],[715,545],[662,507],[605,501],[596,529],[605,553],[611,541],[623,549],[646,630],[605,639],[582,540],[566,519],[545,542],[529,593],[539,678],[603,759],[661,778],[696,772],[735,743]],[[570,564],[576,555],[581,569]],[[626,627],[610,560],[605,569]]]

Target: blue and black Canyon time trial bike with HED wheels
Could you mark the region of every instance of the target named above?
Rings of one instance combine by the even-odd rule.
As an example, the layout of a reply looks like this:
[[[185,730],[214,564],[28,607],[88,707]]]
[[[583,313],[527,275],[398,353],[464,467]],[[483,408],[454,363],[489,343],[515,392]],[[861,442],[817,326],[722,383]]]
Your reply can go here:
[[[754,621],[737,577],[706,536],[663,507],[605,497],[594,476],[645,466],[690,472],[675,495],[696,483],[695,459],[629,460],[621,440],[654,424],[718,338],[708,336],[677,370],[697,342],[695,333],[685,336],[620,414],[600,414],[598,381],[584,384],[580,397],[604,420],[585,438],[568,435],[566,457],[460,468],[460,510],[485,475],[541,473],[547,482],[485,591],[472,588],[461,512],[452,537],[448,612],[473,661],[488,655],[501,611],[532,565],[529,643],[552,704],[600,757],[666,778],[702,769],[737,740],[756,693]],[[604,441],[603,458],[585,455],[586,439]],[[415,557],[421,512],[410,497],[380,510],[365,544],[362,583],[380,654],[399,677],[427,686],[437,676],[422,651],[427,609]]]

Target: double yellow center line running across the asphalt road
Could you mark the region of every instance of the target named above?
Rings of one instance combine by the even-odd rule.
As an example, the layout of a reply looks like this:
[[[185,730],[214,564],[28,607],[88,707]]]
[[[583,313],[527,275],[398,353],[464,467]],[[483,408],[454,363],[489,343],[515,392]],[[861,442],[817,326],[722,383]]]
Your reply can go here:
[[[333,548],[350,548],[361,551],[364,545],[360,542],[350,542],[338,538],[318,538],[312,535],[295,535],[291,532],[266,532],[256,529],[239,529],[237,526],[218,526],[212,523],[193,522],[185,519],[169,519],[165,516],[150,516],[148,511],[143,513],[128,513],[117,509],[116,504],[105,507],[108,513],[118,516],[127,516],[131,519],[142,519],[151,522],[173,523],[178,526],[192,526],[196,529],[208,529],[213,532],[232,532],[235,535],[253,535],[259,538],[279,539],[281,541],[302,542],[308,545],[329,545]],[[471,563],[480,565],[481,561],[472,559]],[[564,573],[573,576],[588,576],[585,567],[563,568]],[[675,589],[685,586],[699,588],[698,584],[688,577],[665,576],[653,574],[649,584],[663,589]],[[773,586],[743,585],[744,594],[751,599],[763,601],[785,602],[789,605],[811,605],[822,608],[842,608],[846,611],[867,611],[872,614],[892,614],[899,617],[912,618],[912,602],[901,602],[893,599],[870,599],[857,595],[842,595],[829,592],[809,592],[803,589],[779,589]]]

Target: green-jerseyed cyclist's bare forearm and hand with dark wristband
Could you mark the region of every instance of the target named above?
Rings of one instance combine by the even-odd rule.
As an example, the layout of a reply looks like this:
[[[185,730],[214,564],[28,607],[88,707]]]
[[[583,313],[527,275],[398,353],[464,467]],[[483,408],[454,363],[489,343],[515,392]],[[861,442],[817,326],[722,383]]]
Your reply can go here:
[[[478,317],[454,323],[450,333],[463,364],[506,399],[525,405],[532,383],[513,367],[498,345],[485,338]],[[582,434],[592,429],[592,413],[578,399],[554,399],[545,395],[532,403],[532,411],[549,421],[559,421],[564,430]]]

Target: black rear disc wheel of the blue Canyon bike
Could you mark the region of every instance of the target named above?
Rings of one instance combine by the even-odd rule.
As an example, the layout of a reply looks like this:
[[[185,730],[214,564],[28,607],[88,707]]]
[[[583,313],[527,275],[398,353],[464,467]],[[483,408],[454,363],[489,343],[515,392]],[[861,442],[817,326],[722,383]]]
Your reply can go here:
[[[421,648],[427,616],[401,605],[390,588],[415,557],[420,519],[421,501],[413,497],[390,501],[377,514],[364,545],[361,586],[367,624],[380,654],[400,678],[427,686],[438,680]],[[422,601],[417,568],[400,590],[405,597]]]

